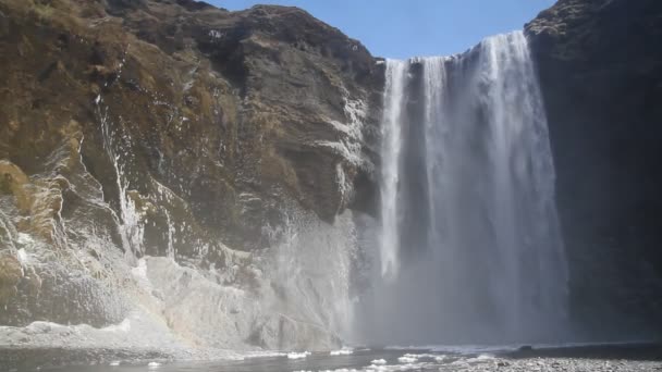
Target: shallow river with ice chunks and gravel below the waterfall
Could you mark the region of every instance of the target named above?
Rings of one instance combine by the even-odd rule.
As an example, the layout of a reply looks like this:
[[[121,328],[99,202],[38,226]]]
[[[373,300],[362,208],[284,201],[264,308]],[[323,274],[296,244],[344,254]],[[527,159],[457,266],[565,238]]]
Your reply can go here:
[[[48,355],[44,350],[42,356]],[[88,350],[89,355],[95,351]],[[68,352],[61,351],[63,358]],[[621,344],[572,347],[426,347],[357,348],[331,352],[269,352],[234,360],[167,361],[90,360],[86,364],[56,365],[53,361],[22,359],[9,364],[11,356],[0,350],[0,363],[8,371],[71,372],[293,372],[293,371],[654,371],[662,370],[660,344]],[[77,354],[81,357],[81,354]],[[72,360],[74,357],[72,356]],[[70,360],[70,362],[72,362]]]

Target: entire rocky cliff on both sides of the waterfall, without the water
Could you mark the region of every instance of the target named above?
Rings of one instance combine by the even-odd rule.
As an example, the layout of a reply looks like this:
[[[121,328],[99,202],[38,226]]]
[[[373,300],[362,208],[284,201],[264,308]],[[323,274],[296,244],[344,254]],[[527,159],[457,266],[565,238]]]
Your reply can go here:
[[[573,319],[660,328],[662,3],[526,33]],[[360,42],[295,8],[0,0],[0,346],[339,345],[378,189]]]

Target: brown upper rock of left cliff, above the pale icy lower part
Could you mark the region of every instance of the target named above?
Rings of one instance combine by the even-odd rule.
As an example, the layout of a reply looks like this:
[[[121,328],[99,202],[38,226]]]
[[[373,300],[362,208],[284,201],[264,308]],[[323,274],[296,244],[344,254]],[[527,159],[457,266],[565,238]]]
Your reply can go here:
[[[175,232],[182,255],[199,236],[263,248],[260,228],[281,222],[286,200],[333,221],[353,203],[354,179],[369,178],[364,131],[376,122],[369,107],[379,71],[358,41],[302,10],[228,12],[193,1],[0,7],[10,25],[0,34],[8,66],[0,154],[34,175],[71,144],[119,212],[113,152],[131,198],[146,204],[149,252],[164,253],[166,214],[196,230]],[[155,199],[157,184],[174,194],[172,206]]]

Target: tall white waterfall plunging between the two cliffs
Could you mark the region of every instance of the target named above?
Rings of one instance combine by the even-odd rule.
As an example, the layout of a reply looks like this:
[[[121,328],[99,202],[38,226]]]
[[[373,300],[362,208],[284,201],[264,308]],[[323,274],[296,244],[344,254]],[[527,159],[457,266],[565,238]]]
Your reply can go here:
[[[554,166],[522,32],[387,61],[381,276],[366,334],[390,343],[552,340],[567,269]]]

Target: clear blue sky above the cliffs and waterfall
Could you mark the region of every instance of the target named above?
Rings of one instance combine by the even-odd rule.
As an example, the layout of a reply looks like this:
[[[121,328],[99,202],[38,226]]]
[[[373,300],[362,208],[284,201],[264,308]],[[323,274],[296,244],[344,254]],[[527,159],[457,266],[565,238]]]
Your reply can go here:
[[[205,0],[229,10],[257,3],[305,9],[373,55],[405,59],[465,51],[486,36],[522,29],[554,0]]]

